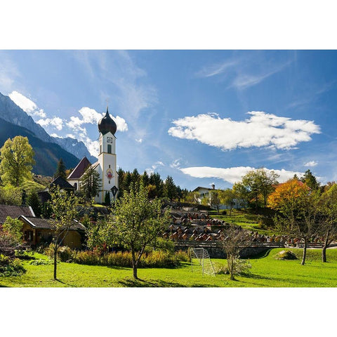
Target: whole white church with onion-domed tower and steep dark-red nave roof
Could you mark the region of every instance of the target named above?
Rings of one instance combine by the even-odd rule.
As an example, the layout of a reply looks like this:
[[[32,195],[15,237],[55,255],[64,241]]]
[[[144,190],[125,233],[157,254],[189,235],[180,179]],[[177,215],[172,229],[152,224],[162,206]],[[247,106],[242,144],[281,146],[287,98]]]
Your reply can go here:
[[[117,131],[117,125],[110,117],[108,108],[105,116],[98,121],[98,131],[100,133],[98,161],[91,165],[86,157],[81,159],[79,164],[68,176],[67,182],[70,183],[75,190],[79,190],[79,180],[88,166],[91,165],[91,167],[100,174],[100,178],[102,179],[102,187],[100,192],[95,196],[95,202],[103,204],[105,194],[109,193],[110,200],[114,200],[118,192],[116,136],[114,136]]]

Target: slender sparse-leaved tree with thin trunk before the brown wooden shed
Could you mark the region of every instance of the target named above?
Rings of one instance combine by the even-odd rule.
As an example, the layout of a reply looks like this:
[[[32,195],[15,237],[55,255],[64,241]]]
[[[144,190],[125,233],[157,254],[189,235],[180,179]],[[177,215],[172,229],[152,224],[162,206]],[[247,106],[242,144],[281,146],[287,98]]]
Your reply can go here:
[[[59,186],[49,190],[51,200],[48,201],[53,218],[50,221],[53,229],[54,279],[57,279],[58,249],[78,216],[79,198],[74,192],[61,190]]]

